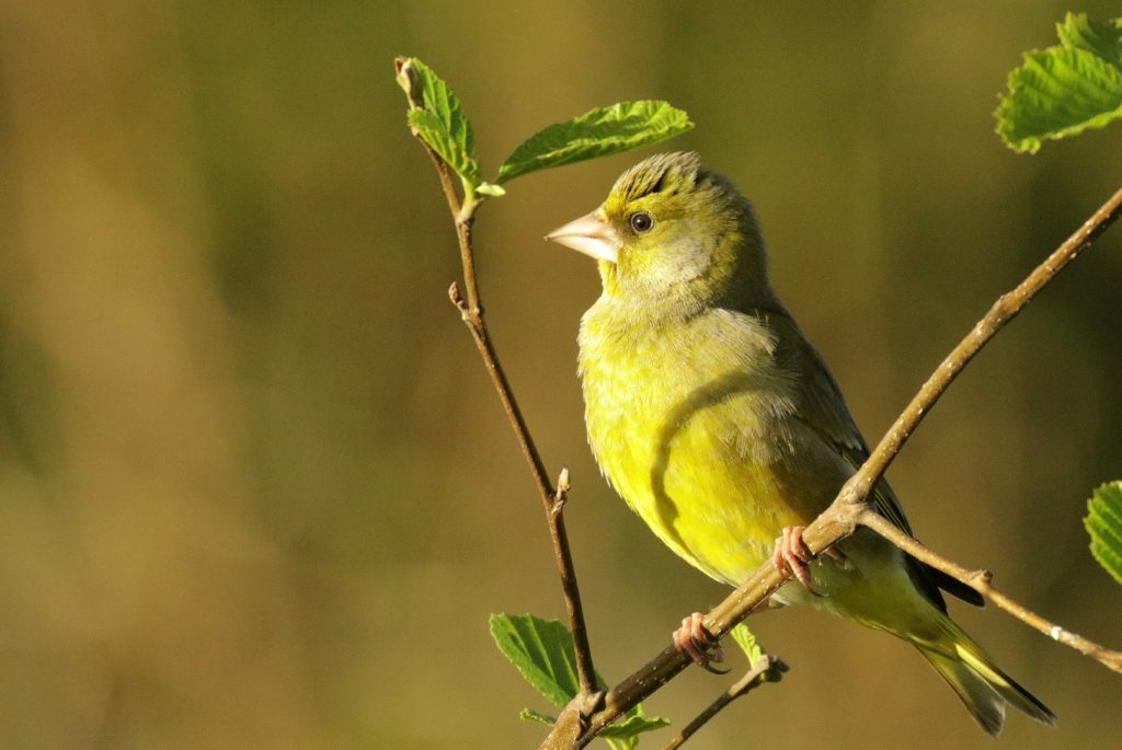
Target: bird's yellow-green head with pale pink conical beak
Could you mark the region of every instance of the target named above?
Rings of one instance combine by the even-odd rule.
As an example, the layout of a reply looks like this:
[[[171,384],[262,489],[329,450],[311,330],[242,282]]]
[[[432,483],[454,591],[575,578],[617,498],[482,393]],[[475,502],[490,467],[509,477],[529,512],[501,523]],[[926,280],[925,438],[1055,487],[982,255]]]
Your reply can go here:
[[[751,204],[697,154],[659,154],[591,213],[546,235],[599,261],[605,293],[711,302],[771,291]]]

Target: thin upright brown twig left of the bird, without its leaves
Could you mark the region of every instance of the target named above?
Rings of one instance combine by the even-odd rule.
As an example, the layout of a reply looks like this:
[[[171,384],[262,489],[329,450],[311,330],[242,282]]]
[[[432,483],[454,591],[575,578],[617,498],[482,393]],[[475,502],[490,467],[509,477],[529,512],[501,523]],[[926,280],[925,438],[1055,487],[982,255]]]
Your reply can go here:
[[[423,107],[423,96],[421,96],[419,82],[413,70],[406,65],[405,58],[398,57],[394,61],[394,73],[398,78],[402,77],[403,73],[407,76],[408,85],[404,87],[410,108]],[[432,159],[433,166],[436,168],[436,175],[440,177],[441,187],[444,191],[444,197],[448,201],[448,209],[456,220],[456,238],[460,248],[460,263],[463,270],[463,286],[467,299],[460,295],[459,286],[454,281],[448,290],[449,297],[457,309],[460,311],[460,317],[463,318],[465,325],[468,326],[468,331],[470,331],[471,337],[476,342],[476,348],[484,360],[487,373],[490,376],[491,383],[495,386],[499,400],[503,402],[503,410],[511,423],[511,428],[518,438],[518,446],[522,448],[522,454],[530,465],[530,472],[533,474],[534,484],[537,487],[537,492],[545,510],[550,538],[553,541],[553,556],[557,562],[558,573],[561,576],[561,589],[564,594],[565,610],[569,615],[569,629],[572,631],[573,651],[577,656],[577,675],[580,680],[581,693],[585,696],[585,701],[581,704],[581,714],[583,715],[589,710],[586,706],[595,704],[596,701],[594,698],[598,698],[598,693],[596,688],[596,670],[592,666],[592,649],[588,642],[585,611],[580,602],[580,589],[577,585],[577,571],[572,562],[572,552],[569,548],[564,515],[561,512],[569,492],[569,470],[562,469],[561,476],[558,480],[558,488],[554,490],[550,484],[542,456],[530,434],[530,428],[526,426],[526,420],[522,416],[522,409],[518,408],[518,402],[515,400],[514,390],[511,388],[506,372],[498,361],[498,354],[495,352],[495,345],[491,342],[487,324],[484,322],[484,309],[479,300],[479,286],[476,279],[475,253],[471,246],[471,226],[479,201],[473,195],[466,195],[462,200],[460,198],[456,189],[457,180],[453,169],[421,138],[421,135],[416,130],[411,130]]]

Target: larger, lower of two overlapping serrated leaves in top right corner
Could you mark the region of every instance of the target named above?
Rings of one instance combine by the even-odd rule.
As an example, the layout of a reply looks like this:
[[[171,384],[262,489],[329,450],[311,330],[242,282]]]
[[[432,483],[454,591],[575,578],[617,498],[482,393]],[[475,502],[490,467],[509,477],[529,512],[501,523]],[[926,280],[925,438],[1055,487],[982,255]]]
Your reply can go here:
[[[1027,53],[994,115],[997,133],[1017,151],[1102,128],[1122,118],[1122,67],[1076,47]]]

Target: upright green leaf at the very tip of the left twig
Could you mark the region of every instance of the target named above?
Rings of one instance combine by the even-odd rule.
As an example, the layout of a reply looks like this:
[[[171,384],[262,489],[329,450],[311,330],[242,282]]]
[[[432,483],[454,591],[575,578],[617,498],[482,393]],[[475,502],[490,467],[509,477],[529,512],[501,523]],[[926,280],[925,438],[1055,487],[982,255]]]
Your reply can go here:
[[[460,100],[416,57],[398,61],[397,83],[410,99],[410,127],[460,175],[466,195],[475,191],[481,179],[476,137]]]

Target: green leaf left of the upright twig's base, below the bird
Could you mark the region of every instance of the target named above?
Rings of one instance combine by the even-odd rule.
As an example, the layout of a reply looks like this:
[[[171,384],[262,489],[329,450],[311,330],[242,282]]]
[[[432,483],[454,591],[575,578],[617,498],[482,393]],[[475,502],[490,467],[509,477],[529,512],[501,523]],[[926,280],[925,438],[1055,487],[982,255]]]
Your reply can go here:
[[[553,705],[564,706],[580,689],[569,629],[533,614],[493,614],[491,638],[526,682]]]

